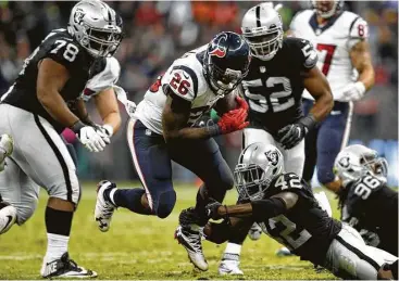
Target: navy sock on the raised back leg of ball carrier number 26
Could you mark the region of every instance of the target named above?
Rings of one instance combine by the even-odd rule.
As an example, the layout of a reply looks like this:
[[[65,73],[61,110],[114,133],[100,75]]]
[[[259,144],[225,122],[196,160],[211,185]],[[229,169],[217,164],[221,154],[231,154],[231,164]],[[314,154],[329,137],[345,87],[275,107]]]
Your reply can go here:
[[[152,210],[141,204],[141,196],[145,193],[144,189],[117,189],[114,192],[110,192],[109,196],[110,201],[117,207],[128,208],[141,215],[152,215]]]

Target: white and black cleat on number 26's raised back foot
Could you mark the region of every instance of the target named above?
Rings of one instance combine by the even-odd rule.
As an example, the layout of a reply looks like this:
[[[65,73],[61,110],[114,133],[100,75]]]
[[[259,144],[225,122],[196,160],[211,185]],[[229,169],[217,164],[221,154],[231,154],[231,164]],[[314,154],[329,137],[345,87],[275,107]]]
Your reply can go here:
[[[95,220],[102,232],[107,232],[110,229],[112,215],[116,208],[115,205],[104,197],[104,192],[110,189],[116,189],[116,184],[108,180],[102,180],[97,186]]]

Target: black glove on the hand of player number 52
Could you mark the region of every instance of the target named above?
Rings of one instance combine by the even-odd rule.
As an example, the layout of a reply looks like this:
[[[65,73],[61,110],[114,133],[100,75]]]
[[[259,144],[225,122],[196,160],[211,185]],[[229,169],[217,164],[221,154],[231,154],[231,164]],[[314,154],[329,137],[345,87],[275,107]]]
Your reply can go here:
[[[314,128],[316,120],[313,115],[308,115],[299,119],[298,123],[285,126],[277,132],[277,140],[285,150],[290,150],[297,145],[307,133]]]

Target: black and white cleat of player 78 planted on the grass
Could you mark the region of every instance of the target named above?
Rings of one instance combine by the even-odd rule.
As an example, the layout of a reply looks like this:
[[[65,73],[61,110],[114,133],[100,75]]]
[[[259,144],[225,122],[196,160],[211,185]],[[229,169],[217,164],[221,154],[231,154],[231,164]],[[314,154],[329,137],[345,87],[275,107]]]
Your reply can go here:
[[[43,261],[40,273],[43,278],[93,278],[96,271],[79,267],[74,260],[70,259],[67,253],[60,259],[50,263]]]

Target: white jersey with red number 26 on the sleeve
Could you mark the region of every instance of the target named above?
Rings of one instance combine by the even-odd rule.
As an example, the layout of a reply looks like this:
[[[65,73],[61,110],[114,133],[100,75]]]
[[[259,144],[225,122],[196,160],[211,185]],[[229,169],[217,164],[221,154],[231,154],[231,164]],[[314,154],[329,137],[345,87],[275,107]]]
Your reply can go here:
[[[188,126],[199,119],[204,112],[215,105],[223,94],[215,93],[203,75],[202,58],[207,50],[202,46],[175,60],[166,73],[158,78],[137,105],[135,117],[151,131],[162,135],[162,111],[166,102],[164,88],[191,103]]]

